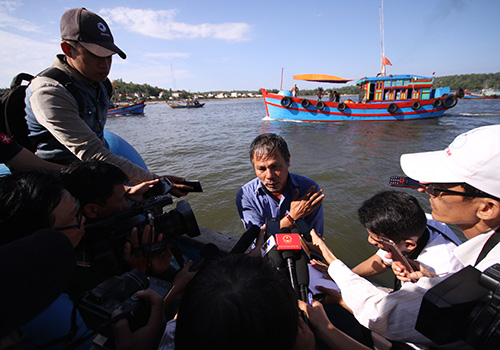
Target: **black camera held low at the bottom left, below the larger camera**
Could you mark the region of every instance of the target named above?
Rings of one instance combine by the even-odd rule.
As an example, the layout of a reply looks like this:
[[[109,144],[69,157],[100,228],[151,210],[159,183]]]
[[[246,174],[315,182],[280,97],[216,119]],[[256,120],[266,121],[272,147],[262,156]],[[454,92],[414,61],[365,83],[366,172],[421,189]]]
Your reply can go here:
[[[138,298],[135,293],[147,288],[162,297],[172,284],[154,277],[147,277],[139,270],[132,270],[122,276],[113,276],[87,292],[78,303],[78,310],[85,324],[108,338],[112,338],[111,314],[122,310],[122,317],[129,322],[133,332],[143,327],[149,320],[151,305],[149,300]]]

